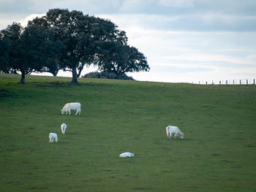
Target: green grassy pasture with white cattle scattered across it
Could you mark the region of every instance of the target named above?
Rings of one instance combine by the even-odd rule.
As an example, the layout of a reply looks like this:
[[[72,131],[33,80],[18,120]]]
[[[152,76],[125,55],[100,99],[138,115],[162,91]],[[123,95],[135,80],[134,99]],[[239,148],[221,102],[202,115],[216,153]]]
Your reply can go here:
[[[256,191],[255,85],[19,80],[0,74],[0,191]]]

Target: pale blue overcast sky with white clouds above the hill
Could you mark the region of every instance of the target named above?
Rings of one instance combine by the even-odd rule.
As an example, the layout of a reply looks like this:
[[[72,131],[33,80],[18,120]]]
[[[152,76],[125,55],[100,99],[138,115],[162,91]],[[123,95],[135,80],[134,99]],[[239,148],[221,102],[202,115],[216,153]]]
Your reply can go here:
[[[108,18],[126,31],[151,67],[129,73],[135,80],[256,78],[256,0],[0,0],[0,29],[53,8]]]

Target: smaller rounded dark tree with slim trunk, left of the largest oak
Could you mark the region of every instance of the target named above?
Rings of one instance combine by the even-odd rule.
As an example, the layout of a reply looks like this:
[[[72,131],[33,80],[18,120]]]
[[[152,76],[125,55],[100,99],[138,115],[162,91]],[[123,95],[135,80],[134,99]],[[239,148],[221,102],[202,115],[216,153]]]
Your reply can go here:
[[[30,25],[22,28],[20,23],[12,23],[1,31],[1,39],[9,40],[10,68],[21,73],[20,83],[25,83],[25,75],[40,72],[50,64],[49,58],[56,58],[63,47],[53,41],[53,34],[45,26]]]

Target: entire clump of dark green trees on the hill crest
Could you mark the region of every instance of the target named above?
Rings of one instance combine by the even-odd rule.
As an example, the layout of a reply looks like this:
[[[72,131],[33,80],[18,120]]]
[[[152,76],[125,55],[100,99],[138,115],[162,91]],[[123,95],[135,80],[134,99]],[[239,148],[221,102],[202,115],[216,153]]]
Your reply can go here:
[[[78,82],[84,66],[93,64],[100,77],[124,77],[127,72],[149,71],[146,57],[127,44],[125,31],[110,20],[68,9],[50,9],[28,26],[12,23],[0,31],[0,72],[20,73],[20,83],[31,72],[60,69]]]

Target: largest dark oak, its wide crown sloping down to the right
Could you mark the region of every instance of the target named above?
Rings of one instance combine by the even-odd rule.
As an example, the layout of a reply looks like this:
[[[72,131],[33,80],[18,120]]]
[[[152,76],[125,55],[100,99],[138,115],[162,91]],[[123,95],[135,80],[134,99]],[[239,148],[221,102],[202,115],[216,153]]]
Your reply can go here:
[[[64,43],[60,67],[72,72],[72,82],[78,82],[85,65],[94,64],[105,71],[113,69],[117,74],[149,69],[146,57],[127,45],[125,32],[110,20],[68,9],[50,9],[44,17],[29,24],[47,26],[55,39]]]

